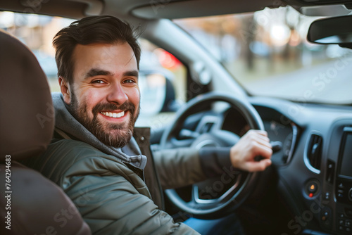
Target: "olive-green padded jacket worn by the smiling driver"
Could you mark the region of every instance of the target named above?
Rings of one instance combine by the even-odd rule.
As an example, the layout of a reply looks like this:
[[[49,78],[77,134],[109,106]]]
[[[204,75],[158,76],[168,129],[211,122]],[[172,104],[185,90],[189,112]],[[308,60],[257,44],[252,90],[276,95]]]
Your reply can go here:
[[[134,138],[148,158],[144,171],[72,139],[53,139],[44,155],[25,164],[61,186],[93,234],[198,234],[163,211],[161,191],[206,179],[198,152],[158,151],[153,157],[149,129],[135,128]]]

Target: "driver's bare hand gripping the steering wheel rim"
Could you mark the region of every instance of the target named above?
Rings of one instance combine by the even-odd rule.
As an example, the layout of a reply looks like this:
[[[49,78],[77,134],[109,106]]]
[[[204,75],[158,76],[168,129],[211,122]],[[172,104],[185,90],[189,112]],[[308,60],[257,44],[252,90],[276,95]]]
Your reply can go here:
[[[272,147],[268,133],[249,130],[230,150],[230,160],[234,167],[249,172],[263,171],[271,165]],[[256,156],[263,157],[256,161]]]

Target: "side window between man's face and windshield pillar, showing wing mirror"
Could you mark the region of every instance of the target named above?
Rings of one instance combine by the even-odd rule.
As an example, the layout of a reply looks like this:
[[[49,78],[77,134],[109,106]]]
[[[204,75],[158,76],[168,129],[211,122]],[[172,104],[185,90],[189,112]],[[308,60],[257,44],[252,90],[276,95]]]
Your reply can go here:
[[[139,39],[141,114],[137,125],[158,128],[187,101],[187,69],[168,51]]]

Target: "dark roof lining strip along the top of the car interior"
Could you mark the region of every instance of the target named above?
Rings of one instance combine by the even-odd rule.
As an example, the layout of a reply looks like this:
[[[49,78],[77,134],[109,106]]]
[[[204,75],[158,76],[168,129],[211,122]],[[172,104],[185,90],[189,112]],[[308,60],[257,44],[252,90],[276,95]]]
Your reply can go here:
[[[339,4],[350,3],[338,0]],[[210,15],[246,13],[265,7],[289,5],[300,11],[305,6],[337,4],[337,0],[4,0],[3,11],[84,18],[88,15],[115,15],[125,20],[194,18]],[[200,7],[201,6],[201,7]],[[143,20],[141,20],[143,21]]]

